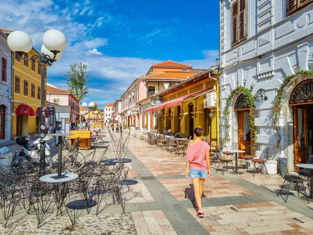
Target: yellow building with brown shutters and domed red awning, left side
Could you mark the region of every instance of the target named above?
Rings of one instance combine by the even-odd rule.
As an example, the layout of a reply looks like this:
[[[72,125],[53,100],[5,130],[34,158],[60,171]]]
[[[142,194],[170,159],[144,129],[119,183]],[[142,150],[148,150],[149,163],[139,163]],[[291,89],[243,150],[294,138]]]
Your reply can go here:
[[[29,58],[40,55],[34,48],[23,55]],[[12,137],[40,133],[41,107],[41,66],[34,60],[22,60],[17,53],[13,55],[13,120]],[[45,90],[47,86],[47,66],[45,66]],[[45,92],[45,91],[44,91]],[[46,96],[45,96],[46,97]],[[45,102],[46,106],[46,102]],[[46,114],[47,115],[47,114]]]

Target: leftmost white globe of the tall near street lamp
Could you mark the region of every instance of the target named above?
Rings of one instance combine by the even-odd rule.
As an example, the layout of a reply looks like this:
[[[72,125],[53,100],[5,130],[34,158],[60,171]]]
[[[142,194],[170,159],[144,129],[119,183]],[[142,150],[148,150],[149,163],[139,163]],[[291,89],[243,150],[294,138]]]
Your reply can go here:
[[[13,31],[8,36],[8,45],[14,52],[27,53],[32,50],[33,41],[23,31]]]

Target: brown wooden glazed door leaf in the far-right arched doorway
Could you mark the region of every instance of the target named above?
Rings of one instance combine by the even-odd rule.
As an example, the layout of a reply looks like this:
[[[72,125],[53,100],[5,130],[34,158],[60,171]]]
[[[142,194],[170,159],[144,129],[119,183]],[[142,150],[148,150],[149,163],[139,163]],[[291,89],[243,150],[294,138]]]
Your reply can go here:
[[[295,165],[306,163],[308,160],[308,123],[307,106],[295,105],[294,107],[294,149]],[[295,166],[295,170],[299,170]]]

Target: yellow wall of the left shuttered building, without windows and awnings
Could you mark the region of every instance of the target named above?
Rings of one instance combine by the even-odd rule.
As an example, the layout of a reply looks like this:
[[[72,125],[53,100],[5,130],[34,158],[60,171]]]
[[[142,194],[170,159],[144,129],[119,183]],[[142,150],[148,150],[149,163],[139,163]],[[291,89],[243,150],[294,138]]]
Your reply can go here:
[[[34,49],[28,52],[28,58],[32,55],[39,54]],[[24,65],[24,60],[18,62],[13,55],[13,120],[12,120],[12,137],[15,138],[16,133],[16,108],[19,104],[27,104],[37,111],[41,105],[41,100],[37,99],[38,86],[41,87],[41,75],[38,75],[38,62],[35,62],[35,71],[31,70],[31,61],[28,60],[28,67]],[[43,72],[43,71],[42,71]],[[20,78],[20,93],[15,92],[15,76]],[[45,76],[45,87],[47,86],[47,76]],[[28,81],[28,95],[24,96],[24,80]],[[31,84],[35,85],[35,97],[31,97]],[[46,90],[46,89],[45,89]],[[41,91],[44,92],[44,91]],[[46,95],[45,95],[46,97]],[[45,102],[46,105],[46,102]],[[36,117],[24,116],[23,119],[23,135],[34,136],[36,133]]]

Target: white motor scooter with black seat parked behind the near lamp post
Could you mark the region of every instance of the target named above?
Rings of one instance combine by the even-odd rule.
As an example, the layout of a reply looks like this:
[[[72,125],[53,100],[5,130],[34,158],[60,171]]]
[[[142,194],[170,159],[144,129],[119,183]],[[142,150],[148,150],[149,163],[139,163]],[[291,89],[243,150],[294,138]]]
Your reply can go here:
[[[43,140],[52,139],[52,136],[46,135]],[[33,141],[32,144],[28,144],[28,141]],[[39,162],[40,159],[40,138],[36,140],[31,140],[27,136],[19,136],[16,138],[16,143],[22,146],[22,151],[19,153],[20,157],[25,158],[30,161]],[[53,160],[50,155],[50,146],[45,143],[45,163],[50,167],[53,165]]]

